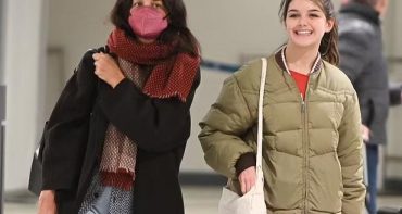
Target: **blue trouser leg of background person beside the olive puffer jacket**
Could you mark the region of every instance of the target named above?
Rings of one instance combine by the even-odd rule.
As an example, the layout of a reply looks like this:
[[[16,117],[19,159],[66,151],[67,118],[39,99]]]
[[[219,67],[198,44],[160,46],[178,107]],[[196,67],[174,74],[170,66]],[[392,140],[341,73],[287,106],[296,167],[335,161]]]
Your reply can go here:
[[[366,207],[369,214],[377,213],[377,167],[378,167],[378,144],[366,143],[368,187]],[[366,198],[367,199],[367,198]]]

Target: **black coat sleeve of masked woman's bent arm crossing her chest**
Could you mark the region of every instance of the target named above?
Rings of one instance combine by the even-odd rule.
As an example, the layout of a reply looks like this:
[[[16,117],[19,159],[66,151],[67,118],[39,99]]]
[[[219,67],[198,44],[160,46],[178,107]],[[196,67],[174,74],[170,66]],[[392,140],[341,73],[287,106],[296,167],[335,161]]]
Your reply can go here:
[[[103,85],[99,103],[106,118],[140,149],[164,152],[189,138],[190,106],[199,84],[200,71],[186,102],[181,102],[177,98],[150,98],[126,78],[114,89]]]

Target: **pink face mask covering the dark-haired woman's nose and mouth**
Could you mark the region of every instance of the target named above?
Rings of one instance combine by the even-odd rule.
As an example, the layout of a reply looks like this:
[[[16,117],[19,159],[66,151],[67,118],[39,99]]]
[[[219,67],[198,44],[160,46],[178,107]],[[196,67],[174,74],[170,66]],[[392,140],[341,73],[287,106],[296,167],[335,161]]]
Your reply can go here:
[[[133,8],[128,23],[134,33],[145,39],[156,39],[167,27],[164,14],[151,7]]]

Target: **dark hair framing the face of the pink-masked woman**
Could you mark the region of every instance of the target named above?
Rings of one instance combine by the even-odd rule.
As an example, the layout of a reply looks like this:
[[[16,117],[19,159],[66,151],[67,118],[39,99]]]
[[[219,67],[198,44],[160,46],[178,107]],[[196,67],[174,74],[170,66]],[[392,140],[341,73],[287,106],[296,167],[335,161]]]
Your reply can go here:
[[[200,55],[200,43],[187,27],[187,12],[183,0],[163,0],[168,18],[167,28],[160,35],[159,40],[163,43],[177,43],[177,52],[186,52]],[[111,22],[123,29],[127,36],[137,39],[128,24],[129,11],[133,0],[116,0],[111,12]]]

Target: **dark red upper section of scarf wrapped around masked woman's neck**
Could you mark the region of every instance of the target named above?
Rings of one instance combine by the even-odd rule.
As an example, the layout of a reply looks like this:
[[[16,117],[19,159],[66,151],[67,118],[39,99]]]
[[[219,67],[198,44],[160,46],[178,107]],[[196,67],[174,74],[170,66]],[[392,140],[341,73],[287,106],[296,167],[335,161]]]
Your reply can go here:
[[[112,53],[134,64],[154,65],[143,93],[152,98],[178,97],[186,101],[200,66],[199,56],[176,54],[174,45],[137,42],[117,28],[110,35],[108,46]]]

